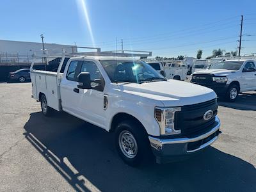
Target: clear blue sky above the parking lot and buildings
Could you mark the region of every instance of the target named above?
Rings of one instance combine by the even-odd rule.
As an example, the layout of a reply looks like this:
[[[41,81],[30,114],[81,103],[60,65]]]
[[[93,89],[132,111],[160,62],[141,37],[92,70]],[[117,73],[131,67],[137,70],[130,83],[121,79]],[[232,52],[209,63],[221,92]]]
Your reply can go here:
[[[235,51],[244,15],[242,54],[256,52],[256,1],[2,0],[0,39],[152,51],[203,57]],[[88,27],[90,22],[92,34]],[[117,44],[116,44],[117,39]]]

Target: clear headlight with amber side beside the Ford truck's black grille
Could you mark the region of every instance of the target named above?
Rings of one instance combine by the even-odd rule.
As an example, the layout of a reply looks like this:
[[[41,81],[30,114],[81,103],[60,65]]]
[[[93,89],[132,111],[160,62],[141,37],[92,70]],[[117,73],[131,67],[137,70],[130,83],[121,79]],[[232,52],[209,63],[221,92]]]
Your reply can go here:
[[[181,108],[156,108],[155,117],[160,126],[161,135],[180,134],[180,130],[175,130],[175,112]]]

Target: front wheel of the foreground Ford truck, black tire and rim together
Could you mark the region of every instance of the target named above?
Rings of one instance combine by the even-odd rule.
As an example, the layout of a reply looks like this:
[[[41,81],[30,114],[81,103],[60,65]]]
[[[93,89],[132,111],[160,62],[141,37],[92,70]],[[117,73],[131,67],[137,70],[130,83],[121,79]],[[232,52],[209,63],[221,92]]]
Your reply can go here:
[[[116,126],[115,145],[118,155],[129,166],[138,166],[152,157],[147,132],[134,120],[124,120]]]

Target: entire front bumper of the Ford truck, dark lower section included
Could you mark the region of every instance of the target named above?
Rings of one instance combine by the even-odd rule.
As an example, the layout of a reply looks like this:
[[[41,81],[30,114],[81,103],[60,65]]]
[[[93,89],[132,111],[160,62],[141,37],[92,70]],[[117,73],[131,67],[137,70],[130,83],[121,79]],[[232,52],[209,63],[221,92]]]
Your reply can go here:
[[[152,151],[156,156],[157,163],[175,159],[175,157],[186,157],[211,145],[218,139],[220,119],[215,117],[216,125],[205,134],[195,138],[159,139],[148,136]]]

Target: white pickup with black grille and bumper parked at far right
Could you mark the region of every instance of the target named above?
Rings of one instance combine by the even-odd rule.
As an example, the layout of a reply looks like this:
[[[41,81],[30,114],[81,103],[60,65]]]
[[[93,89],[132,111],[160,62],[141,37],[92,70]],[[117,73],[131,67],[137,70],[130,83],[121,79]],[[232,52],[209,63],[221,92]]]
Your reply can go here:
[[[219,97],[234,102],[241,92],[256,90],[255,60],[226,60],[191,75],[191,83],[212,88]]]

